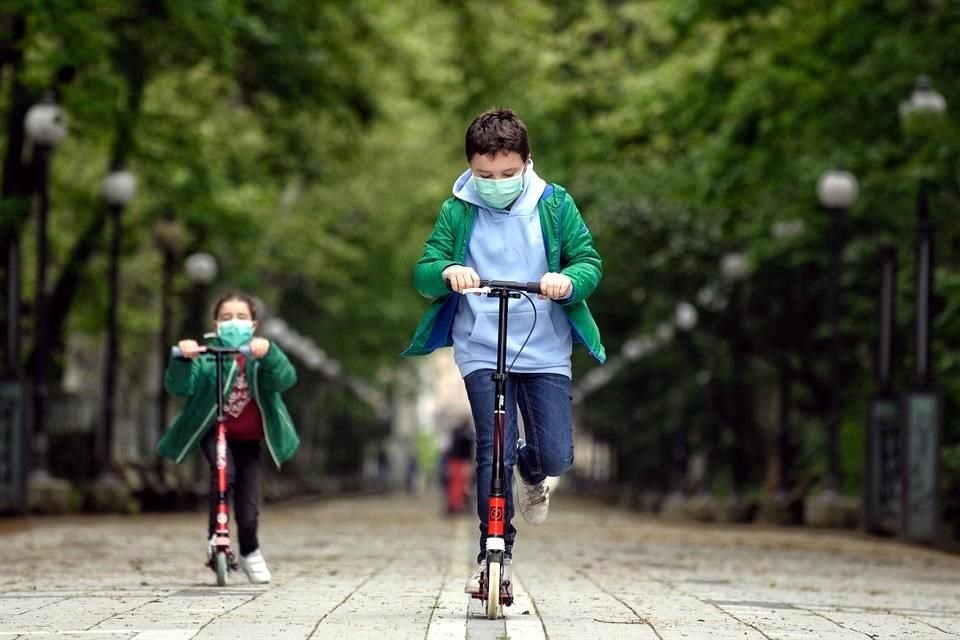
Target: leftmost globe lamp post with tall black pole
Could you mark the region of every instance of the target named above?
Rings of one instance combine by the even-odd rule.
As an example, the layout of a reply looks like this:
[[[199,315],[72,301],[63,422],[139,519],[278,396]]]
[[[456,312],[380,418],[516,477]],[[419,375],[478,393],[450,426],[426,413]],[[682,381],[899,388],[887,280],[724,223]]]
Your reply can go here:
[[[49,211],[49,171],[50,157],[57,143],[67,133],[66,118],[63,110],[56,104],[52,93],[30,107],[24,118],[27,141],[33,147],[34,193],[37,199],[36,244],[37,244],[37,283],[34,294],[33,324],[33,473],[45,477],[47,468],[47,434],[45,417],[47,408],[47,213]],[[12,298],[11,298],[12,300]],[[15,306],[15,305],[11,305]],[[16,325],[19,320],[11,318]],[[17,347],[11,345],[13,353]],[[31,481],[35,481],[34,477]]]

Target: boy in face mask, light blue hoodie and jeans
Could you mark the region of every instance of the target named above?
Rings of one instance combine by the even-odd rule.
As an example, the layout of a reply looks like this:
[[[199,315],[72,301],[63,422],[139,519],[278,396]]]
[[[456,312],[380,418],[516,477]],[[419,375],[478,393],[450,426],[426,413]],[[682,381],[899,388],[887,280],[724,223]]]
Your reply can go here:
[[[605,354],[585,302],[600,281],[600,254],[573,198],[534,172],[523,122],[509,109],[480,114],[467,129],[466,155],[470,168],[454,183],[453,197],[443,203],[417,263],[417,291],[434,300],[404,355],[452,344],[466,386],[476,427],[480,554],[464,591],[475,594],[486,555],[498,302],[460,292],[478,287],[479,274],[540,283],[535,309],[525,299],[510,301],[504,579],[510,578],[517,533],[511,524],[514,464],[520,513],[527,522],[541,524],[549,507],[547,476],[559,476],[573,464],[573,341],[586,345],[600,362]],[[518,403],[527,442],[515,448]]]

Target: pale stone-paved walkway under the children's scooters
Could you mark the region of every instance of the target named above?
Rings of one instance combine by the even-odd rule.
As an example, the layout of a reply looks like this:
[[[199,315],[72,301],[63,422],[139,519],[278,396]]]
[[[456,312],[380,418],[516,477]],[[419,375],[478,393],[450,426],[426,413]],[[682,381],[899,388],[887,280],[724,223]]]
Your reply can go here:
[[[666,524],[558,491],[523,526],[516,602],[463,582],[439,499],[267,505],[274,583],[201,565],[204,514],[0,520],[0,640],[960,638],[960,557],[856,533]]]

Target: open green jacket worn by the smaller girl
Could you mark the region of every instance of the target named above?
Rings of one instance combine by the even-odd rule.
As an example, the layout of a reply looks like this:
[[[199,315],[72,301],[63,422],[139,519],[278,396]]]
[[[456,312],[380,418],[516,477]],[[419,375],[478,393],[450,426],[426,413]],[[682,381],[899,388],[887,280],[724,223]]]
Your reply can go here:
[[[224,346],[219,339],[213,346]],[[157,452],[174,462],[183,460],[196,448],[211,425],[217,420],[216,369],[213,358],[170,358],[163,384],[167,392],[186,396],[187,403],[174,419],[173,424],[160,438]],[[224,399],[233,389],[237,377],[237,363],[229,361],[224,366],[224,384],[221,393]],[[263,435],[270,456],[279,467],[300,446],[293,419],[287,411],[280,394],[297,382],[297,371],[276,343],[263,358],[247,358],[247,380],[254,401],[263,418]]]

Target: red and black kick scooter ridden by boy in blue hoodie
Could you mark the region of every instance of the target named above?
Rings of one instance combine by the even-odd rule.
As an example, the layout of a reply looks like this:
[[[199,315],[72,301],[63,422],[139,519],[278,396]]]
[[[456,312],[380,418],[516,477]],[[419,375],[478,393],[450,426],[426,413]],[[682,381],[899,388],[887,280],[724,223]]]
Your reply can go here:
[[[491,298],[498,298],[500,301],[497,318],[497,368],[493,374],[496,390],[493,400],[493,473],[490,476],[490,502],[487,507],[487,567],[480,578],[480,591],[473,596],[486,602],[487,618],[493,620],[497,617],[500,605],[508,607],[513,604],[513,585],[509,580],[503,579],[503,558],[506,551],[504,541],[506,492],[509,490],[506,486],[503,463],[504,426],[507,415],[507,315],[510,298],[519,298],[527,293],[539,294],[540,283],[481,280],[479,287],[464,289],[462,293],[484,294]],[[533,333],[533,327],[530,333]],[[528,335],[527,338],[529,337]],[[520,351],[525,345],[526,341],[521,345]]]

